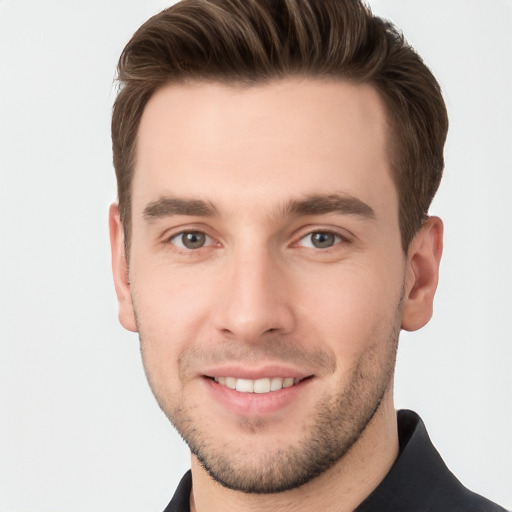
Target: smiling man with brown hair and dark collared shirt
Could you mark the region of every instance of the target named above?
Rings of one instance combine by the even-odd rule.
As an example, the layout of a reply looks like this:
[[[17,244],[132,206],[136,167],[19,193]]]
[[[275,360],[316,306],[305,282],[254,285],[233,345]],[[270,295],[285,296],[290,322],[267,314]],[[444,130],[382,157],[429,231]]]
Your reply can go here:
[[[192,452],[166,510],[503,510],[393,405],[448,125],[394,27],[350,0],[185,0],[119,80],[119,317]]]

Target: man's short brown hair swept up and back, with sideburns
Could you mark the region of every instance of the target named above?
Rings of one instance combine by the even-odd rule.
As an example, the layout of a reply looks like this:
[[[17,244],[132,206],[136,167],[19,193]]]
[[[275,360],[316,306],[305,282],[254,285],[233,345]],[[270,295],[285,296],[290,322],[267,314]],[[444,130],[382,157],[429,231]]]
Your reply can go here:
[[[252,85],[297,75],[369,83],[379,92],[407,250],[441,180],[448,117],[419,55],[358,0],[183,0],[139,28],[119,59],[112,117],[127,249],[137,131],[155,91],[186,80]]]

